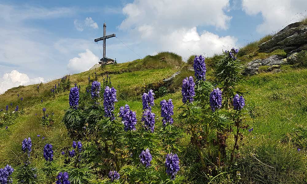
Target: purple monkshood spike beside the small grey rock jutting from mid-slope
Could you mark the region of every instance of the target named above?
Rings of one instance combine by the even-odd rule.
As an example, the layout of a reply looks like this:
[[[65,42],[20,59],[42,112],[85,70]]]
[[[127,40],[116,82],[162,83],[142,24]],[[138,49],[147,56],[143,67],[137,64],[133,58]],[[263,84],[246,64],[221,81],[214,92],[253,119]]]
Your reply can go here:
[[[182,94],[182,102],[193,102],[194,101],[194,96],[195,96],[195,91],[194,91],[195,83],[193,81],[193,77],[190,76],[189,78],[186,77],[182,81],[182,86],[181,86],[181,94]]]

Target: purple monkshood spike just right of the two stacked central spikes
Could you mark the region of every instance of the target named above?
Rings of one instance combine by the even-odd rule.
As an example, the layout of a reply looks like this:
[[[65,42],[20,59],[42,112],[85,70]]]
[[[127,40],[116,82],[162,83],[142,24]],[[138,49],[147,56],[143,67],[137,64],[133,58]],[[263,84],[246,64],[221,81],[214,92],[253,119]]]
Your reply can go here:
[[[169,125],[172,125],[174,120],[172,116],[174,115],[174,105],[172,102],[172,99],[169,99],[167,102],[166,100],[162,100],[160,102],[161,105],[161,117],[162,119],[162,125],[165,126],[166,123],[169,123]]]

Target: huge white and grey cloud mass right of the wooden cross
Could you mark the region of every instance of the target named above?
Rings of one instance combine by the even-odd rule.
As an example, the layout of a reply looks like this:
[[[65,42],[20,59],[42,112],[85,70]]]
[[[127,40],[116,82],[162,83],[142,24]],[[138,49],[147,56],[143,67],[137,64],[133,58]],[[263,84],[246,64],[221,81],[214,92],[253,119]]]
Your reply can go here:
[[[128,30],[131,37],[146,43],[145,52],[170,50],[184,58],[191,54],[212,55],[223,47],[234,46],[237,39],[197,29],[203,26],[228,29],[232,17],[225,12],[229,8],[228,0],[135,0],[122,9],[126,19],[119,29]]]

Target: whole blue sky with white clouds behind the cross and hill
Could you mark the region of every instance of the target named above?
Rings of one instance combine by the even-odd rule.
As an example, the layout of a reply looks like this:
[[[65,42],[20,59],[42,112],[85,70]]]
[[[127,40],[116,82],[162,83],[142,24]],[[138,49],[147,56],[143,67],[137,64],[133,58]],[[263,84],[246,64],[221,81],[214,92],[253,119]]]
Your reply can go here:
[[[94,39],[104,21],[107,34],[141,57],[172,51],[187,58],[276,32],[306,15],[304,7],[303,0],[2,0],[0,93],[88,70],[102,57]],[[138,58],[117,38],[107,40],[107,57]]]

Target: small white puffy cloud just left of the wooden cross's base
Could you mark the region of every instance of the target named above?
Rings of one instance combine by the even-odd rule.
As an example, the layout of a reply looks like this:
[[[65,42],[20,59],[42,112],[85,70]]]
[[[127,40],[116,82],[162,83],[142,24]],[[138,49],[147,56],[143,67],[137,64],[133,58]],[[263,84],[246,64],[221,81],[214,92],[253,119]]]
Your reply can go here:
[[[87,71],[94,64],[99,62],[99,57],[93,54],[89,49],[86,49],[86,52],[79,53],[78,55],[79,57],[70,59],[68,62],[68,70],[72,73]]]

